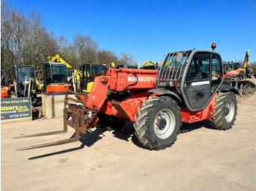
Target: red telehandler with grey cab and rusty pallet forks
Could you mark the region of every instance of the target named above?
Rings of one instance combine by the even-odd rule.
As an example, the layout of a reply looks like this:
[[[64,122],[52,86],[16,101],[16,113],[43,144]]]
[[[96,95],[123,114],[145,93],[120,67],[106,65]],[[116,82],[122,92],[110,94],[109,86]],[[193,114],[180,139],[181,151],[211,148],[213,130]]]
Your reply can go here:
[[[126,121],[134,122],[144,147],[156,150],[176,141],[181,122],[209,119],[213,128],[232,128],[238,92],[222,85],[222,58],[214,51],[215,45],[213,50],[170,52],[159,70],[109,69],[106,75],[95,77],[90,93],[67,91],[63,132],[68,125],[75,128],[74,138],[18,150],[78,141],[80,133],[95,125],[120,128]],[[214,66],[219,71],[213,77]]]

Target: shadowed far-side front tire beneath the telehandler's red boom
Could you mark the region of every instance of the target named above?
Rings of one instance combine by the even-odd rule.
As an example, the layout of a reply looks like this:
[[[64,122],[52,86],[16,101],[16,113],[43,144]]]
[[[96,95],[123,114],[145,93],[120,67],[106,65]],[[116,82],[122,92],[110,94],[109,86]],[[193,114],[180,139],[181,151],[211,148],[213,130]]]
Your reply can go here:
[[[116,130],[125,125],[126,120],[122,120],[117,117],[110,116],[108,114],[99,113],[99,122],[97,123],[99,128],[104,130]]]

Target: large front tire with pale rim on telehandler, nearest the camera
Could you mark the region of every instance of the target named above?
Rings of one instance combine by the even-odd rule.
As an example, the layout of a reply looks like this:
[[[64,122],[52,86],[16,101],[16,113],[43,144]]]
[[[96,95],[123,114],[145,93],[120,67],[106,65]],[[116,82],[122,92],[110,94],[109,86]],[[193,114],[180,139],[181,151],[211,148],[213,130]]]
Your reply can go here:
[[[170,97],[150,97],[139,107],[134,128],[138,140],[147,149],[171,147],[181,128],[180,108]]]

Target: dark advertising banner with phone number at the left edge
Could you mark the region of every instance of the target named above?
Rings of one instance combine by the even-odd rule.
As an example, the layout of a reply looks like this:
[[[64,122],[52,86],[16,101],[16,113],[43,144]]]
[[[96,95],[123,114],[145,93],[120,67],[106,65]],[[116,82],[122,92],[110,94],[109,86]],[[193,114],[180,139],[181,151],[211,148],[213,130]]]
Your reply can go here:
[[[1,120],[32,117],[31,98],[2,98]]]

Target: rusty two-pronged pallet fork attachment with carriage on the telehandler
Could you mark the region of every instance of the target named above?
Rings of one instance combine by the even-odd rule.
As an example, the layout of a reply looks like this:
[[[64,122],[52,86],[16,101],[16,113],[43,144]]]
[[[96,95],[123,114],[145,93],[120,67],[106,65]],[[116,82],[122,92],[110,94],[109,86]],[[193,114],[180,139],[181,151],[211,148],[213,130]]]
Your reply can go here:
[[[68,93],[75,94],[75,98],[70,97]],[[38,144],[34,146],[18,148],[15,150],[21,151],[21,150],[27,150],[27,149],[37,149],[37,148],[51,147],[51,146],[56,146],[61,144],[69,144],[75,141],[79,141],[80,133],[86,133],[89,123],[96,116],[96,114],[94,113],[94,117],[88,120],[90,118],[88,115],[89,113],[91,114],[91,111],[89,112],[90,109],[86,109],[87,94],[88,93],[75,93],[69,90],[67,91],[65,95],[65,101],[64,101],[65,104],[64,104],[64,129],[63,130],[16,136],[13,139],[29,138],[29,137],[36,137],[36,136],[50,136],[50,135],[56,135],[59,133],[67,133],[67,125],[75,129],[75,136],[73,136],[70,139],[53,141],[46,144]],[[68,104],[69,101],[72,101],[75,104]],[[77,104],[80,104],[80,105],[77,105]],[[69,118],[71,118],[71,120],[69,120]],[[87,120],[85,120],[86,122],[83,123],[84,124],[83,127],[80,127],[80,120],[82,120],[82,118]]]

